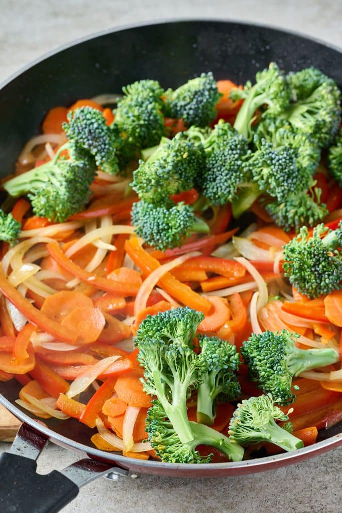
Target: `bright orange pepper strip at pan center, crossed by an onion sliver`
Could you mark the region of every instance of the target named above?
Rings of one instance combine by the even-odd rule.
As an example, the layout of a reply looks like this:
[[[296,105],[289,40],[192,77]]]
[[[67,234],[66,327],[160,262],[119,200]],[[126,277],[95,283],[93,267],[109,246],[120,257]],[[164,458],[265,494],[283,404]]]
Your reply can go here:
[[[126,241],[125,248],[133,262],[142,269],[144,274],[149,274],[160,266],[159,262],[140,246],[136,237]],[[158,284],[176,300],[181,301],[190,308],[203,311],[205,315],[209,313],[211,303],[188,285],[176,280],[171,273],[167,272],[164,274]]]

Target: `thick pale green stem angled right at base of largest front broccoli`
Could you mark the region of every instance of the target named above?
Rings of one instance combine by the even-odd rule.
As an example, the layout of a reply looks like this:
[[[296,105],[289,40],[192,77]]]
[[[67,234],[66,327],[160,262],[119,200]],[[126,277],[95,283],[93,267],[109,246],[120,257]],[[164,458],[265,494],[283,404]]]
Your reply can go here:
[[[244,449],[233,443],[222,433],[209,426],[189,422],[194,435],[196,445],[210,445],[223,452],[232,461],[241,461],[244,457]],[[280,429],[280,428],[279,428]],[[295,437],[293,437],[295,438]],[[297,439],[296,439],[297,440]]]

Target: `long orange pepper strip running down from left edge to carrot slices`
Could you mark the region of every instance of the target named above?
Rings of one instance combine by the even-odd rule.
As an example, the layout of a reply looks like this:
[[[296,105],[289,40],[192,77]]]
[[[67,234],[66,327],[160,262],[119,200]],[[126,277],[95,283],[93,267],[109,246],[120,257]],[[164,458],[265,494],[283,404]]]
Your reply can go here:
[[[73,343],[77,338],[77,333],[71,332],[57,322],[49,319],[45,313],[37,310],[30,301],[22,296],[13,285],[7,280],[0,270],[0,290],[6,298],[20,310],[23,315],[35,326],[43,331],[50,333],[57,340]]]

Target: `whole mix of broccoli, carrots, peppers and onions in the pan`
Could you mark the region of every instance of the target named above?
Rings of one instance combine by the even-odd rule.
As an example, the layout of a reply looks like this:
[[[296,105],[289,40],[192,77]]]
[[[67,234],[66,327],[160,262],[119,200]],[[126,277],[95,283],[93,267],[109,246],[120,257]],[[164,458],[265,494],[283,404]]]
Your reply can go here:
[[[54,107],[3,180],[0,380],[99,449],[171,463],[342,420],[341,92],[154,80]]]

